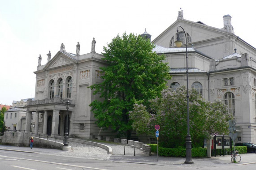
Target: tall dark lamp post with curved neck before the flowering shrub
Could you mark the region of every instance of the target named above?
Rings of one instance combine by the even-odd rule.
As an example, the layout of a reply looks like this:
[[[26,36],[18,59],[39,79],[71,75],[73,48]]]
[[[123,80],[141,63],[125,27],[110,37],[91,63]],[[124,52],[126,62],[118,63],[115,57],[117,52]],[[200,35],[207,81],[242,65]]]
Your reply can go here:
[[[178,32],[178,27],[181,27],[182,26],[177,26],[177,32]],[[187,63],[187,35],[186,35],[186,32],[185,30],[182,28],[183,30],[183,33],[185,35],[185,38],[186,38],[186,63]],[[182,41],[180,40],[180,37],[179,37],[179,32],[177,34],[177,41],[175,41],[175,44],[176,44],[176,47],[181,47],[182,45]],[[190,136],[190,132],[189,132],[189,94],[188,94],[188,68],[187,68],[187,71],[186,71],[186,74],[187,74],[187,136],[186,136],[186,161],[184,163],[194,163],[192,161],[192,158],[191,158],[191,136]]]

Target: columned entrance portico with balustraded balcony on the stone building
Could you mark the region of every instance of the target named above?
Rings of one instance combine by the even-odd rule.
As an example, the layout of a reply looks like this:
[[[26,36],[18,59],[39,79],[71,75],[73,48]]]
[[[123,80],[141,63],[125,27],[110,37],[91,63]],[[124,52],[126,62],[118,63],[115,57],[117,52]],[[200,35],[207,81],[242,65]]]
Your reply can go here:
[[[66,119],[66,103],[67,99],[54,97],[53,99],[35,100],[27,102],[26,111],[26,131],[32,131],[35,134],[43,134],[49,136],[63,136],[65,133],[65,119]],[[70,107],[68,112],[68,120],[74,112],[74,105],[72,100],[69,100]],[[33,119],[32,119],[33,112]],[[39,119],[42,119],[39,122]],[[34,120],[34,121],[33,121]],[[70,126],[68,121],[68,127]],[[34,124],[31,127],[31,124]],[[68,133],[72,134],[69,131]]]

